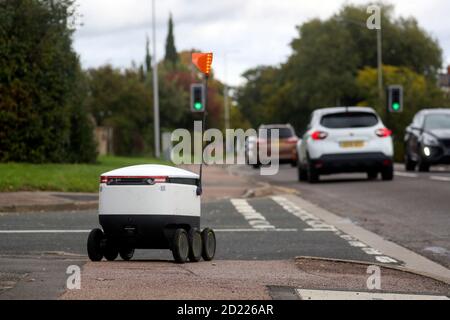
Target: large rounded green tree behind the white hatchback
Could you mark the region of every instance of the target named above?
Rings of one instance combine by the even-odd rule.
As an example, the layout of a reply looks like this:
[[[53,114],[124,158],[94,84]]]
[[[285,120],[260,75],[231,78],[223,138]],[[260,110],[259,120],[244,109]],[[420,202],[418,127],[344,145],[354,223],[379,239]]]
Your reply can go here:
[[[414,18],[394,18],[392,6],[380,6],[384,63],[408,68],[436,87],[442,65],[439,43]],[[313,110],[365,100],[356,83],[358,72],[377,66],[377,33],[366,27],[366,9],[367,5],[344,5],[330,19],[302,24],[286,63],[244,73],[247,83],[238,101],[253,126],[290,122],[302,132]],[[372,105],[384,103],[377,98]]]

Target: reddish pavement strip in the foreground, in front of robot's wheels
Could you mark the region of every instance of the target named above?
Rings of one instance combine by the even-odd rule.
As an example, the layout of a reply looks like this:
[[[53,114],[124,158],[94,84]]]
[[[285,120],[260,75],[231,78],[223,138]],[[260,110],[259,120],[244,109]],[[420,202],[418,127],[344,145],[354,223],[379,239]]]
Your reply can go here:
[[[432,279],[384,268],[381,273],[378,292],[450,294],[448,286]],[[295,290],[302,288],[367,291],[367,266],[310,259],[88,263],[82,289],[67,291],[62,299],[299,300]]]

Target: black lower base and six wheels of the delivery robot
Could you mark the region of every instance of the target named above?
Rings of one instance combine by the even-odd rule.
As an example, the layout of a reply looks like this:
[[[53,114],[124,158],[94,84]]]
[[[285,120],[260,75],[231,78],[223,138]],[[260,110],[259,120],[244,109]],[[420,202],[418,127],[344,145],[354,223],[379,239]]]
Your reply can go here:
[[[92,261],[118,255],[130,260],[135,249],[170,249],[178,263],[214,259],[216,236],[212,229],[200,232],[200,217],[176,215],[100,215],[103,230],[89,234],[87,249]]]

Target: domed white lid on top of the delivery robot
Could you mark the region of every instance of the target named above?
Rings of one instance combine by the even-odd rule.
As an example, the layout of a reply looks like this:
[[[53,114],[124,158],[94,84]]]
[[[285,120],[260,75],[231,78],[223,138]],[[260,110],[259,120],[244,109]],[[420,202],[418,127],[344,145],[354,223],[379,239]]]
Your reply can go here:
[[[199,179],[199,176],[187,170],[180,168],[146,164],[132,166],[106,172],[102,177],[166,177],[166,178],[185,178]]]

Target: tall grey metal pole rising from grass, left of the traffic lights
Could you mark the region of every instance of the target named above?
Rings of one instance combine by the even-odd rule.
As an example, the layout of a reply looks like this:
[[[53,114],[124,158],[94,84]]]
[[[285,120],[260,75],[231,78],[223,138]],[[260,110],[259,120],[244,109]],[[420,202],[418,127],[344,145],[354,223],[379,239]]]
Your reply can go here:
[[[152,0],[152,28],[153,28],[153,127],[155,130],[155,157],[161,157],[161,138],[159,128],[159,84],[158,60],[156,58],[156,20],[155,0]]]

